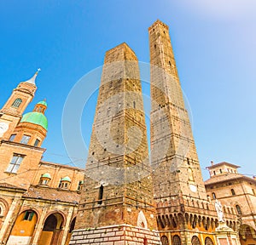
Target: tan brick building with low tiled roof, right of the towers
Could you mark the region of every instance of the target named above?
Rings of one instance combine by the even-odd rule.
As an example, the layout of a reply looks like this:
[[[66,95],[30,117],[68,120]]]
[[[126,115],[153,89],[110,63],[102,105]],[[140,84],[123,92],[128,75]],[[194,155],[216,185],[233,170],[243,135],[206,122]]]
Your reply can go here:
[[[219,162],[207,167],[210,179],[205,181],[209,198],[218,199],[223,205],[226,225],[239,231],[241,244],[256,241],[256,180],[239,174],[239,166]],[[238,216],[239,223],[231,222],[230,214]],[[239,229],[237,229],[237,226]]]

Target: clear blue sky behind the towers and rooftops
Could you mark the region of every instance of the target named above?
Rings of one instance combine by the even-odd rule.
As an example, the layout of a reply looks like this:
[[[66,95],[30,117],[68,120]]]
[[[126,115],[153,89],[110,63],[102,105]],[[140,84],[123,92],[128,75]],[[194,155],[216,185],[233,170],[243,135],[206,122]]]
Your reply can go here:
[[[26,111],[47,99],[44,160],[70,163],[61,135],[67,95],[119,43],[128,43],[138,60],[148,62],[148,26],[160,19],[170,28],[204,178],[211,160],[232,162],[241,165],[242,174],[256,174],[255,10],[254,0],[2,0],[0,106],[40,67],[38,91]],[[87,145],[95,103],[96,93],[81,122]]]

